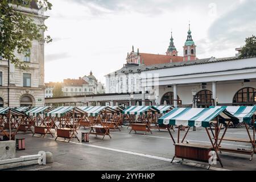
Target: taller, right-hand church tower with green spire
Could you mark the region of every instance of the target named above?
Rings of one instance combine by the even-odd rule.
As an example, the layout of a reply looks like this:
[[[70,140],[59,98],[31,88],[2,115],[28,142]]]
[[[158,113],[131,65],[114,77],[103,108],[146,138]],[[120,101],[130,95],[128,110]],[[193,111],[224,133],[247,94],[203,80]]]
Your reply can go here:
[[[186,40],[185,45],[183,47],[183,51],[184,51],[183,61],[196,60],[196,45],[195,45],[195,42],[193,42],[193,39],[192,39],[190,24],[189,24],[189,29],[188,29],[187,40]]]

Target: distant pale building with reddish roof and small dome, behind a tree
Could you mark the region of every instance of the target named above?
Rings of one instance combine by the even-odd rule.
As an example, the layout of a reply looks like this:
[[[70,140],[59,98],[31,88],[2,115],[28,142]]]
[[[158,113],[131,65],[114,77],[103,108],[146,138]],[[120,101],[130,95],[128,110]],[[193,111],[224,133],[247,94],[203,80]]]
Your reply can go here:
[[[53,89],[56,83],[46,83],[46,98],[53,97]],[[105,92],[104,84],[98,82],[92,71],[90,75],[79,79],[64,79],[61,83],[63,96],[84,96],[86,94],[102,94]]]

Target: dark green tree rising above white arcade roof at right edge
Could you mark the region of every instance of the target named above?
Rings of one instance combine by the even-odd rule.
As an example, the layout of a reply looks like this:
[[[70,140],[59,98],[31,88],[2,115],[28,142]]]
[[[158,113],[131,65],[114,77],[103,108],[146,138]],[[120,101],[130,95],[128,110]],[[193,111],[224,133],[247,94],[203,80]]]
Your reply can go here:
[[[241,50],[240,57],[256,56],[256,36],[245,39],[245,46]]]

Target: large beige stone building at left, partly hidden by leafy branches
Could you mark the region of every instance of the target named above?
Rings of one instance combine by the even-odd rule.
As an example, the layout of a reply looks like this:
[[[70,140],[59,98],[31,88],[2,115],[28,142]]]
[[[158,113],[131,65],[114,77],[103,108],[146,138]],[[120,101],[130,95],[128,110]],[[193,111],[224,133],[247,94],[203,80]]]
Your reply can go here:
[[[48,18],[34,1],[30,7],[17,8],[24,14],[32,15],[38,24],[44,24]],[[44,42],[32,41],[28,52],[30,56],[16,53],[16,57],[28,65],[26,69],[15,67],[0,57],[0,107],[44,106]]]

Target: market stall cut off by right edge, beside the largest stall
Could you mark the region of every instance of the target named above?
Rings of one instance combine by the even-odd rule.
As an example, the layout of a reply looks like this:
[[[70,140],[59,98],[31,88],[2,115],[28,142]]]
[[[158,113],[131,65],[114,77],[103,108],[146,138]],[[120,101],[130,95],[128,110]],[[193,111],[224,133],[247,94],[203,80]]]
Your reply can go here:
[[[229,113],[233,114],[234,117],[232,121],[228,121],[224,123],[225,130],[222,136],[218,138],[220,140],[218,144],[218,149],[221,152],[233,152],[237,154],[245,154],[250,155],[250,160],[253,159],[253,155],[255,154],[255,115],[256,115],[256,106],[216,106],[213,108],[225,108]],[[245,125],[247,138],[239,138],[239,137],[225,137],[226,131],[229,128],[230,122],[233,123],[243,123]],[[250,133],[249,127],[253,127],[252,134]],[[215,138],[214,138],[215,139]],[[250,143],[251,150],[245,150],[241,148],[226,148],[221,146],[222,141],[230,141],[230,142],[241,142],[241,143]]]

